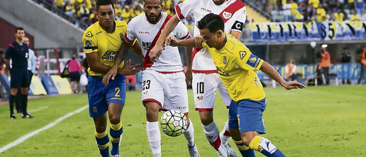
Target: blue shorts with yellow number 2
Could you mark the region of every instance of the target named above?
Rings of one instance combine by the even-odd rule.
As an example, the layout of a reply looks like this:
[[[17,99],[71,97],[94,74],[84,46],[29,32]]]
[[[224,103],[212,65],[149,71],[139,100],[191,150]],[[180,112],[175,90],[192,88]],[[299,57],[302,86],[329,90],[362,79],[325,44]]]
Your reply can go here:
[[[90,117],[102,116],[108,111],[108,104],[124,105],[126,99],[126,76],[117,75],[105,86],[102,77],[88,77],[88,101]]]

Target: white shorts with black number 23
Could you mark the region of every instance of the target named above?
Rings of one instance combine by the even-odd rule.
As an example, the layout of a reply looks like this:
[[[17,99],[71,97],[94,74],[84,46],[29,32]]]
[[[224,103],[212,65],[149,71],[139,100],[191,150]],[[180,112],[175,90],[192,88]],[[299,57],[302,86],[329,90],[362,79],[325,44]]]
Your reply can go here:
[[[163,74],[155,70],[144,70],[141,100],[156,102],[163,111],[177,109],[187,115],[186,76],[183,72]]]

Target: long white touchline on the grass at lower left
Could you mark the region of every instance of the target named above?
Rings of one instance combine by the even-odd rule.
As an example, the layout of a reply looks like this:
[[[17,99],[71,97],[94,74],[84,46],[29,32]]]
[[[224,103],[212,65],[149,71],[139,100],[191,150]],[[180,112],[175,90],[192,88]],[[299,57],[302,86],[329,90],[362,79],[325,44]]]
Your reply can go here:
[[[83,107],[81,107],[81,108],[79,108],[79,109],[75,110],[74,112],[69,112],[69,113],[67,113],[65,116],[62,116],[62,117],[60,117],[60,118],[56,119],[55,121],[53,121],[53,122],[51,122],[51,123],[47,124],[46,126],[44,126],[44,127],[40,128],[40,129],[37,129],[37,130],[35,130],[35,131],[32,131],[32,132],[30,132],[29,134],[24,135],[24,136],[22,136],[22,137],[20,137],[20,138],[16,139],[14,142],[11,142],[11,143],[9,143],[9,144],[5,145],[4,147],[1,147],[1,148],[0,148],[0,153],[4,152],[5,150],[10,149],[11,147],[14,147],[14,146],[16,146],[16,145],[19,145],[20,143],[24,142],[26,139],[28,139],[28,138],[30,138],[30,137],[32,137],[32,136],[34,136],[34,135],[37,135],[38,133],[40,133],[40,132],[42,132],[42,131],[45,131],[46,129],[49,129],[49,128],[51,128],[51,127],[55,126],[56,124],[60,123],[60,122],[61,122],[61,121],[63,121],[64,119],[66,119],[66,118],[68,118],[68,117],[71,117],[72,115],[74,115],[74,114],[76,114],[76,113],[80,113],[82,110],[85,110],[85,109],[87,109],[87,108],[88,108],[88,105],[83,106]]]

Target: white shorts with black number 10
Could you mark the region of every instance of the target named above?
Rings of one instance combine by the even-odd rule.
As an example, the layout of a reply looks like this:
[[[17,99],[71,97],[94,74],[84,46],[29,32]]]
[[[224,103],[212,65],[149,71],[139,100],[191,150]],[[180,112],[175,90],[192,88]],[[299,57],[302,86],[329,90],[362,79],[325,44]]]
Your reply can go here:
[[[229,109],[231,98],[228,90],[217,73],[193,73],[192,89],[194,105],[198,111],[212,111],[215,103],[216,90]]]

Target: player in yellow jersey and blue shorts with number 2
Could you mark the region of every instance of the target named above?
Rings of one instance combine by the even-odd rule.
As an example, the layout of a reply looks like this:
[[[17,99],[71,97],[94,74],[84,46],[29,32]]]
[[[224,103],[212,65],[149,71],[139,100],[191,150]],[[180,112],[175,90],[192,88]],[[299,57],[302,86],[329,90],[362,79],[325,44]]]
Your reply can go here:
[[[121,112],[126,99],[126,76],[139,71],[138,65],[131,66],[131,61],[119,62],[118,75],[108,85],[102,83],[102,77],[117,60],[120,47],[124,42],[127,24],[114,21],[114,8],[111,0],[98,0],[98,22],[89,26],[83,34],[84,52],[89,63],[88,101],[89,114],[95,124],[96,142],[103,157],[109,157],[109,138],[107,135],[107,111],[111,128],[113,157],[119,157],[119,145],[122,138]],[[133,49],[142,55],[139,45]]]

